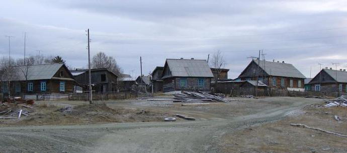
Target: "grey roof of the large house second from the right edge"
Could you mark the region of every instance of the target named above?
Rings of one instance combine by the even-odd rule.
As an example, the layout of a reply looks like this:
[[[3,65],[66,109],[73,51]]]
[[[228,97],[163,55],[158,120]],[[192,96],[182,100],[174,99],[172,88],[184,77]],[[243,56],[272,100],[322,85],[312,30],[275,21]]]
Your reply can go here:
[[[258,60],[253,59],[253,61],[258,64]],[[296,69],[292,64],[274,62],[274,61],[265,61],[261,60],[258,64],[266,73],[273,76],[285,76],[285,77],[296,77],[296,78],[306,78],[298,69]]]

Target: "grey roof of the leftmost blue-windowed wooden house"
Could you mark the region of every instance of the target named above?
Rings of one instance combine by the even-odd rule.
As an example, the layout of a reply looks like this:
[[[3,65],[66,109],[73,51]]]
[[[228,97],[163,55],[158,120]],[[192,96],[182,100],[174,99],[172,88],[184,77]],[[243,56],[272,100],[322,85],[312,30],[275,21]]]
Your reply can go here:
[[[27,79],[51,79],[61,66],[63,66],[63,63],[29,65]],[[16,80],[25,80],[27,66],[15,66],[15,68],[18,75]]]

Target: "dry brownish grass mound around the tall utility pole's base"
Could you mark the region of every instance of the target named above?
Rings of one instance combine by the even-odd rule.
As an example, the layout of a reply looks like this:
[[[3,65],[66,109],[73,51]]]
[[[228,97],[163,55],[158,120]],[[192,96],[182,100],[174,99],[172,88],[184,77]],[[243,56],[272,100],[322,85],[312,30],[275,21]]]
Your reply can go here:
[[[105,103],[81,104],[77,106],[37,104],[39,109],[21,120],[6,120],[6,125],[72,125],[110,122],[162,121],[174,114],[150,109],[110,108]],[[68,108],[70,107],[70,108]]]

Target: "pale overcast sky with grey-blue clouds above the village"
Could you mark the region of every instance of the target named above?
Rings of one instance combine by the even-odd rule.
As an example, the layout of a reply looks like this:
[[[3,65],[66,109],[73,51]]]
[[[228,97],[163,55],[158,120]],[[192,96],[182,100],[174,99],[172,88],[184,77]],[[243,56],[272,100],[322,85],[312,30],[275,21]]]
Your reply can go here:
[[[285,61],[306,77],[322,68],[347,67],[345,0],[4,0],[0,5],[0,57],[61,55],[71,67],[91,54],[116,58],[125,73],[149,73],[165,58],[207,59],[220,50],[235,78],[249,56]]]

